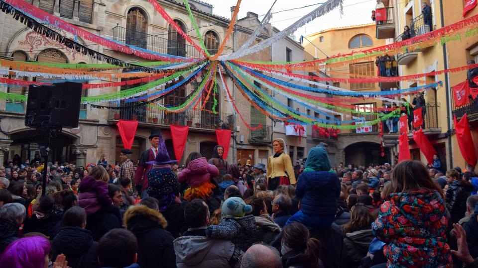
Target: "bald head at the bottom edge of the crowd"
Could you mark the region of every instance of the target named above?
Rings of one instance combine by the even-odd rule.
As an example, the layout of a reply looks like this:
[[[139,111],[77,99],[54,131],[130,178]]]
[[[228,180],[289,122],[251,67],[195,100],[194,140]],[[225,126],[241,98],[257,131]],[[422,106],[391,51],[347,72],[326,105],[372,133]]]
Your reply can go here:
[[[270,246],[252,245],[243,255],[241,268],[281,268],[279,252]]]

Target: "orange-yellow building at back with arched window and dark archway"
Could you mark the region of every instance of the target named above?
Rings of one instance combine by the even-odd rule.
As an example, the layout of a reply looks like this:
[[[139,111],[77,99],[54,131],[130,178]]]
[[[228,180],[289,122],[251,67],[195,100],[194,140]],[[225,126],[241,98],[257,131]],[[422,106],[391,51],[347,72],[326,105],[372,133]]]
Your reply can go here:
[[[320,31],[303,38],[302,45],[305,51],[315,58],[323,59],[326,57],[348,54],[353,51],[380,47],[386,44],[385,40],[375,38],[375,24],[364,24],[349,27],[331,28]],[[349,78],[349,77],[371,77],[377,75],[377,66],[373,60],[347,64],[340,67],[324,67],[324,71],[330,77]],[[385,75],[382,73],[382,75]],[[354,91],[380,91],[381,88],[394,88],[396,84],[378,84],[378,83],[339,83],[334,82],[330,85],[351,89]],[[380,100],[357,100],[351,103],[363,107],[381,107]],[[340,111],[342,112],[342,111]],[[350,116],[350,114],[348,114]],[[340,116],[339,116],[340,117]],[[339,118],[341,120],[344,117]],[[366,116],[365,121],[376,119],[374,116]],[[335,143],[333,141],[329,143]],[[385,163],[390,161],[390,154],[386,150],[385,157],[380,157],[380,140],[378,137],[377,125],[372,126],[369,133],[357,134],[356,130],[343,131],[339,135],[337,146],[337,163],[368,165],[370,163]]]

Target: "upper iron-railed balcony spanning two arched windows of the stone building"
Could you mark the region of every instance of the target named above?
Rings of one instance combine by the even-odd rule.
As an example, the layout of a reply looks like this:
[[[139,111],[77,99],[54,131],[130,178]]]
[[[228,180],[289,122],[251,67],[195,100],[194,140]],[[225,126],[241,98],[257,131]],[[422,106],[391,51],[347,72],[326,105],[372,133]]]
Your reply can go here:
[[[113,40],[121,43],[174,56],[189,58],[202,57],[201,52],[197,51],[194,46],[186,45],[182,37],[178,37],[180,40],[169,40],[159,37],[159,35],[163,34],[158,33],[151,35],[144,32],[133,31],[121,27],[118,24],[113,28]]]

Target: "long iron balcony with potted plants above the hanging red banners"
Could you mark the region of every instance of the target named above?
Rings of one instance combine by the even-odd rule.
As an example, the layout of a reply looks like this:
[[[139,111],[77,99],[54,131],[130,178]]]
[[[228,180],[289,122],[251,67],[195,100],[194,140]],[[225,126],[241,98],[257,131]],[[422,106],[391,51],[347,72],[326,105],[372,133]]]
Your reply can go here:
[[[118,120],[137,120],[142,127],[163,127],[169,125],[189,126],[194,130],[233,130],[234,115],[226,113],[211,113],[207,111],[188,110],[182,113],[165,113],[163,110],[145,105],[132,106],[121,103],[120,110],[109,110],[108,123],[116,124]]]

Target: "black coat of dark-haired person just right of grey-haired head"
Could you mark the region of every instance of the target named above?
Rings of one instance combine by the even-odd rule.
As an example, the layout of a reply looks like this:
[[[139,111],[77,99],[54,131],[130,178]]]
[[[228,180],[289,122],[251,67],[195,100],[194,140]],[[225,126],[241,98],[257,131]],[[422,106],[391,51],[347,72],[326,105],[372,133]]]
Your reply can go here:
[[[56,213],[49,213],[47,216],[39,219],[35,214],[29,219],[25,219],[23,225],[23,234],[39,232],[53,239],[61,229],[61,217]]]

